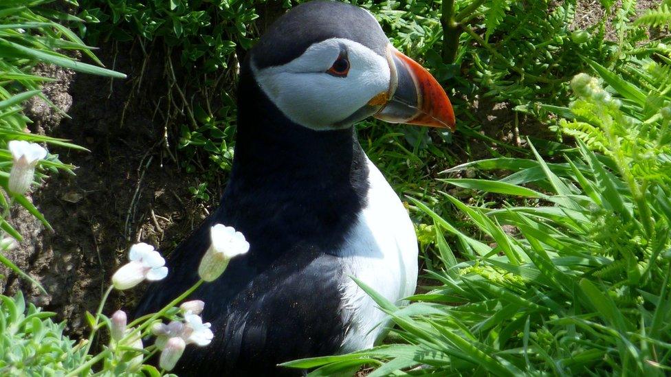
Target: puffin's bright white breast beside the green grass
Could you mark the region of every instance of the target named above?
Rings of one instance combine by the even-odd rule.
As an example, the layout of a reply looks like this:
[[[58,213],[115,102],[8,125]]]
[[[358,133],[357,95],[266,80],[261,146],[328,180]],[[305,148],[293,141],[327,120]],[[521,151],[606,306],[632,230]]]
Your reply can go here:
[[[339,255],[345,274],[354,275],[386,299],[398,302],[415,293],[417,237],[396,193],[366,159],[369,168],[368,204],[349,233]],[[388,318],[347,275],[340,286],[342,315],[348,327],[340,352],[372,347],[384,334]]]

